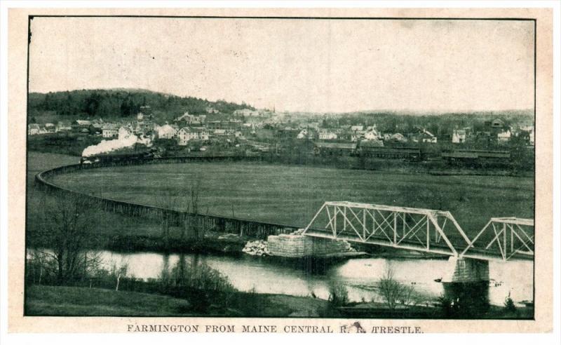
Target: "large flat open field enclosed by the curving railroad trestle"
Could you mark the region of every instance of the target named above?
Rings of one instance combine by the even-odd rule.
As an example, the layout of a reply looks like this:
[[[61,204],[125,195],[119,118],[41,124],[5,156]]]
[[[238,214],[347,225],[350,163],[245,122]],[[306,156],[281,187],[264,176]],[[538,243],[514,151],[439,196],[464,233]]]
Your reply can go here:
[[[53,178],[65,187],[135,203],[187,203],[200,181],[199,212],[305,226],[323,201],[450,210],[468,236],[490,217],[534,217],[529,177],[406,175],[264,163],[139,165]]]

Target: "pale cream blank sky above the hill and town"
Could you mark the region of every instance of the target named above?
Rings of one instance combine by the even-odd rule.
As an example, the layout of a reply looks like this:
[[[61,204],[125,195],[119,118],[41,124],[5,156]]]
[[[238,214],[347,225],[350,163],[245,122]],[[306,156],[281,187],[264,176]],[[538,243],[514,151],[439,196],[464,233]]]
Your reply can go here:
[[[29,91],[145,88],[277,111],[534,107],[534,23],[34,18]]]

